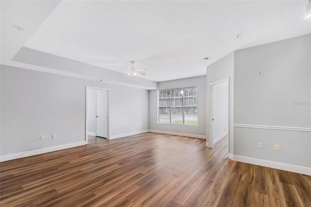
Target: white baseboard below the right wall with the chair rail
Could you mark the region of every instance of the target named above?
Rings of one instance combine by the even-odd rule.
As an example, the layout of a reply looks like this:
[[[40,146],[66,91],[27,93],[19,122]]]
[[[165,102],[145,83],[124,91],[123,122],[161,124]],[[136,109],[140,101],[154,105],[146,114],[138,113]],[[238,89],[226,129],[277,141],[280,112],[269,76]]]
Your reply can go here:
[[[239,156],[239,155],[232,155],[231,154],[231,156],[233,156],[234,161],[238,161],[238,162],[242,162],[242,163],[249,163],[249,164],[260,165],[260,166],[269,167],[269,168],[286,170],[286,171],[290,171],[290,172],[294,172],[294,173],[311,175],[311,168],[307,168],[307,167],[285,164],[285,163],[278,163],[278,162],[273,162],[273,161],[268,161],[268,160],[263,160],[263,159],[256,159],[256,158]],[[229,154],[229,158],[230,158],[230,154]]]

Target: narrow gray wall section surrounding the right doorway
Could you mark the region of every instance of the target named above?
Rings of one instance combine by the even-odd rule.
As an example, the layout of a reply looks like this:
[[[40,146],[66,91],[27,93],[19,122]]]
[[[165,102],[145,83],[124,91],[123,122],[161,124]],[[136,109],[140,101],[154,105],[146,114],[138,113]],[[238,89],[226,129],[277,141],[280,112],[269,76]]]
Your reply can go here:
[[[233,153],[233,89],[234,89],[234,52],[207,67],[207,100],[209,100],[209,84],[229,77],[229,153]],[[209,101],[206,102],[209,109]],[[206,134],[209,136],[209,114],[207,113]],[[209,138],[209,137],[208,137]],[[207,140],[208,141],[208,140]]]

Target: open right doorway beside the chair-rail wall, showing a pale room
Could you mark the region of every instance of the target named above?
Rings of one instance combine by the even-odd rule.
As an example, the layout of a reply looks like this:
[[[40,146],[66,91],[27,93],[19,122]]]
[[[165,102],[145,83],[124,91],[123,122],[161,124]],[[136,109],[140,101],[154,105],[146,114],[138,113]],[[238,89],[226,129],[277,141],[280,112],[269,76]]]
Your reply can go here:
[[[217,142],[226,142],[229,153],[229,78],[210,86],[210,148]]]

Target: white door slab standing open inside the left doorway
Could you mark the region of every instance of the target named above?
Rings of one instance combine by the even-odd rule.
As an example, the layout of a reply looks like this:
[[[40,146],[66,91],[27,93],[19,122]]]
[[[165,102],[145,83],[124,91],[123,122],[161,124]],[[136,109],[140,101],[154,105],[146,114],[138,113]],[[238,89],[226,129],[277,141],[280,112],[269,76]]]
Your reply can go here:
[[[96,92],[96,136],[108,137],[108,91]]]

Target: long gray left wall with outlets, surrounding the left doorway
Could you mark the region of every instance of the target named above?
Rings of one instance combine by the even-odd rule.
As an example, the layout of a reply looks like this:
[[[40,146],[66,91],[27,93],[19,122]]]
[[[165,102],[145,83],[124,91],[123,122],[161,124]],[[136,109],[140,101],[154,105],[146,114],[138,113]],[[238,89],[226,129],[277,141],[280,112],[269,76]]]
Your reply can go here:
[[[86,85],[110,89],[111,136],[149,129],[148,90],[0,66],[0,155],[84,141]]]

